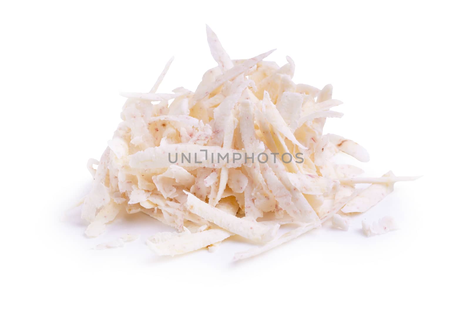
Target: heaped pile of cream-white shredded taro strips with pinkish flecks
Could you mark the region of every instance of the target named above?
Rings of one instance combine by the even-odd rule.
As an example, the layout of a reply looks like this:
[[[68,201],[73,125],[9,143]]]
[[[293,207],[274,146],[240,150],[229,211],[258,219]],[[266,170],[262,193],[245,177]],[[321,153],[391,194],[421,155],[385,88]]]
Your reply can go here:
[[[149,93],[122,94],[123,121],[100,161],[87,164],[94,180],[82,206],[86,235],[102,234],[120,211],[145,213],[175,228],[147,240],[159,255],[211,250],[241,236],[254,246],[235,259],[247,258],[327,220],[347,230],[348,214],[367,211],[395,182],[415,179],[392,172],[364,178],[356,166],[335,164],[338,153],[361,162],[369,156],[356,142],[323,133],[327,118],[342,117],[330,110],[342,102],[332,99],[331,85],[294,83],[290,57],[281,67],[265,61],[274,50],[232,60],[209,27],[207,41],[218,66],[195,92],[157,93],[171,59]],[[286,224],[291,230],[280,231]],[[381,234],[394,222],[385,217],[363,229]]]

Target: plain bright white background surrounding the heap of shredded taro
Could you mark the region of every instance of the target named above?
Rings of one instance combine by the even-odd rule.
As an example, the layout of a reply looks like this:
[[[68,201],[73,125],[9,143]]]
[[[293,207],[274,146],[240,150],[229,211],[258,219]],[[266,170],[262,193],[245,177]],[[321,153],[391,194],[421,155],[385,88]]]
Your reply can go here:
[[[468,310],[468,8],[457,1],[15,1],[1,24],[3,312],[396,312]],[[370,175],[424,175],[348,232],[328,226],[234,264],[241,242],[174,258],[144,245],[166,230],[132,216],[97,239],[70,209],[85,164],[111,138],[124,99],[194,90],[215,65],[205,23],[234,59],[277,48],[296,83],[334,86],[327,131],[371,156]],[[66,213],[64,213],[66,211]],[[400,229],[361,235],[392,215]],[[139,225],[136,226],[136,223]],[[140,228],[140,225],[141,228]],[[91,250],[122,229],[138,242]],[[261,311],[262,310],[262,311]]]

